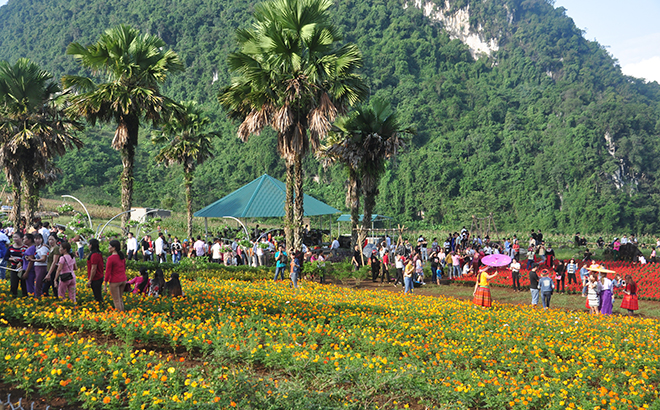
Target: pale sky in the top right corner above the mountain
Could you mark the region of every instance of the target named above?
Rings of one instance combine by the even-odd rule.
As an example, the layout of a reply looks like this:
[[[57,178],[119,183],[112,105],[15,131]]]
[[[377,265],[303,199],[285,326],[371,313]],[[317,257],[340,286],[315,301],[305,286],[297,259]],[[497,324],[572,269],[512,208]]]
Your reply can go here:
[[[660,82],[660,0],[555,0],[555,7],[606,46],[624,74]]]

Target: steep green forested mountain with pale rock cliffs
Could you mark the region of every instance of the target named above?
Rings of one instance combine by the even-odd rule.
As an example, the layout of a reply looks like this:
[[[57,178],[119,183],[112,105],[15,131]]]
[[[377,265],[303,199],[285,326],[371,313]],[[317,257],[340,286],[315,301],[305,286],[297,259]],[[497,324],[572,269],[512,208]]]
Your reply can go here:
[[[216,95],[229,82],[247,0],[9,0],[0,59],[29,57],[56,76],[78,73],[66,46],[120,23],[158,34],[186,64],[164,92],[212,115],[217,155],[197,171],[201,207],[264,172],[282,178],[272,132],[236,138]],[[371,94],[390,99],[412,146],[383,178],[376,211],[456,227],[495,213],[502,228],[654,232],[660,206],[660,86],[626,77],[546,0],[338,0],[334,21],[364,55]],[[48,193],[119,202],[112,132],[89,128],[59,161]],[[135,203],[182,209],[180,169],[157,167],[143,131]],[[306,163],[306,192],[345,209],[340,168]]]

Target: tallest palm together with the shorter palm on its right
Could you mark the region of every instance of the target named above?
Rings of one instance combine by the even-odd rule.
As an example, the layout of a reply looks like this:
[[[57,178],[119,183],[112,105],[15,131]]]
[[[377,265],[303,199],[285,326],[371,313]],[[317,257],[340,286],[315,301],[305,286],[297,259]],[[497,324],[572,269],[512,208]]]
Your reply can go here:
[[[238,30],[240,50],[229,56],[232,84],[218,96],[241,122],[239,138],[258,135],[267,126],[277,132],[287,170],[285,235],[296,249],[302,245],[303,158],[314,151],[347,167],[356,232],[357,181],[364,181],[368,223],[384,162],[403,147],[410,131],[399,129],[389,106],[381,102],[337,118],[362,102],[368,88],[357,73],[362,66],[358,48],[339,46],[342,39],[330,21],[330,6],[331,0],[271,0],[256,6],[256,22]]]

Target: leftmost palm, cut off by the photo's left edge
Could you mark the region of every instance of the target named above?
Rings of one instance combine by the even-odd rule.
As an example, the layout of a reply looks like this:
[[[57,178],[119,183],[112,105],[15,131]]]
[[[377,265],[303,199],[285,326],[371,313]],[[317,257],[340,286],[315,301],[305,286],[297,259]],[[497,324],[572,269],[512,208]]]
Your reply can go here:
[[[28,59],[14,65],[0,62],[0,162],[13,188],[14,226],[21,216],[22,191],[29,222],[39,188],[57,172],[53,159],[82,147],[74,135],[82,126],[65,113],[60,87],[52,78]]]

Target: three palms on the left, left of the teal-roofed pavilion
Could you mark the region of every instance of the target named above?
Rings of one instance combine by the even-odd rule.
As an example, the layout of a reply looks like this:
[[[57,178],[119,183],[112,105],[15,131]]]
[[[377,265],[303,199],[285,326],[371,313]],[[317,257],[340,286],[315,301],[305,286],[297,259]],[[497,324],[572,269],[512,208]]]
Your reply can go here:
[[[90,125],[116,125],[112,147],[121,153],[122,210],[131,209],[133,168],[140,125],[150,122],[160,132],[154,142],[163,145],[156,157],[166,165],[183,165],[188,202],[188,235],[192,236],[192,173],[212,156],[208,119],[192,102],[176,103],[160,92],[170,74],[184,70],[178,55],[164,50],[165,42],[154,35],[121,25],[107,30],[88,46],[72,43],[67,54],[105,82],[65,76],[65,91],[53,76],[35,63],[20,59],[15,65],[0,62],[0,163],[13,188],[10,219],[21,216],[21,193],[27,198],[26,219],[38,204],[39,188],[58,171],[53,161],[72,147],[82,147],[76,132]],[[129,218],[123,215],[125,226]]]

